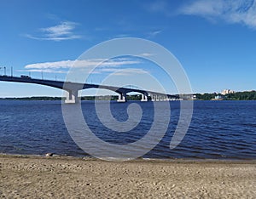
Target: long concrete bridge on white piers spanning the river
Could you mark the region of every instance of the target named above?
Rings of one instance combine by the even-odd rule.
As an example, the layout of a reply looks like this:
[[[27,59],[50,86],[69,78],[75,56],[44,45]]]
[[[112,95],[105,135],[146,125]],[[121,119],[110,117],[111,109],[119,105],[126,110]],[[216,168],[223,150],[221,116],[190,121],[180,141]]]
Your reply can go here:
[[[20,76],[20,77],[10,77],[10,76],[0,76],[0,81],[4,82],[24,82],[24,83],[35,83],[44,86],[49,86],[53,88],[60,88],[67,91],[67,98],[65,103],[77,103],[79,101],[79,90],[88,89],[88,88],[102,88],[111,90],[119,94],[118,102],[125,102],[126,96],[128,93],[137,92],[142,94],[142,101],[148,101],[148,96],[151,96],[152,100],[172,100],[179,99],[178,95],[174,94],[162,94],[154,91],[146,91],[139,88],[119,88],[106,85],[98,85],[92,83],[79,83],[79,82],[63,82],[63,81],[53,81],[46,79],[37,79],[29,76]]]

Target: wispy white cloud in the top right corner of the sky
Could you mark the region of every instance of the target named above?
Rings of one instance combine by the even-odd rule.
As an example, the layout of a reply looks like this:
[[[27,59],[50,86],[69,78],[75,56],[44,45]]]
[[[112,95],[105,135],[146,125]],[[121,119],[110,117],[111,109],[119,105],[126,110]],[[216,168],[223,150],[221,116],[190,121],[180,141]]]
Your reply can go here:
[[[196,0],[184,5],[179,12],[256,28],[256,3],[253,0]]]

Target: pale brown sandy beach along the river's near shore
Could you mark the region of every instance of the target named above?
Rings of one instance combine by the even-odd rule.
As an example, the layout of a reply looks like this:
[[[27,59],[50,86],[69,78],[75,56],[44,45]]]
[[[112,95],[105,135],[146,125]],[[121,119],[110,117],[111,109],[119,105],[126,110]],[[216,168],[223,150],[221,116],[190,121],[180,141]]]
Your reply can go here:
[[[256,162],[0,156],[1,198],[255,198]]]

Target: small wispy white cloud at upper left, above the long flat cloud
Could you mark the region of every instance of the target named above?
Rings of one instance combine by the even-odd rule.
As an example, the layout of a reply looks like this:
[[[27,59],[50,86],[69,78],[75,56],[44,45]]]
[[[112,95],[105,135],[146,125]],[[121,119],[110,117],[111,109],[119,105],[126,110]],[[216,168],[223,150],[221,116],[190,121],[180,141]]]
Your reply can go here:
[[[25,36],[32,39],[38,40],[52,40],[52,41],[63,41],[63,40],[71,40],[78,39],[81,36],[76,35],[73,31],[78,26],[78,23],[72,21],[64,21],[61,22],[60,25],[50,26],[46,28],[40,28],[39,31],[42,33],[41,36],[32,36],[30,34],[26,34]]]

